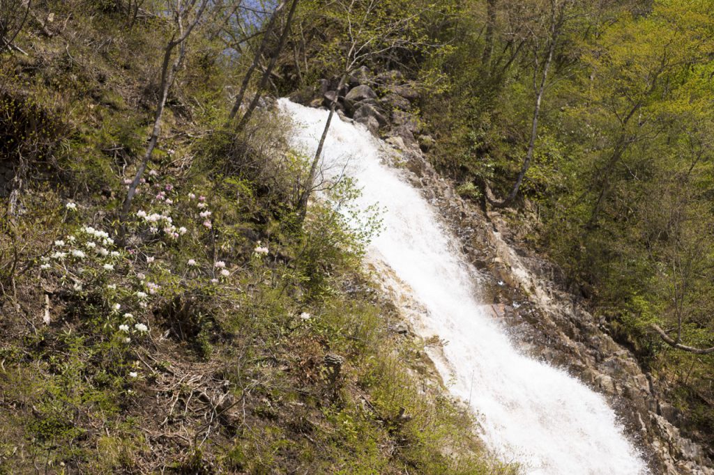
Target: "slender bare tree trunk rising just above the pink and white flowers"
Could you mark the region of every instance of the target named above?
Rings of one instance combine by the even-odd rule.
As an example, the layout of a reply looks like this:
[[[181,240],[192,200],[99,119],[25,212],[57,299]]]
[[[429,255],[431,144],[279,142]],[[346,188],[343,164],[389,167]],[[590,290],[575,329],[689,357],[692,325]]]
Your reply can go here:
[[[176,73],[178,68],[181,67],[183,62],[183,57],[186,56],[186,39],[188,35],[191,34],[191,30],[198,24],[201,19],[203,10],[206,9],[206,4],[208,0],[202,0],[201,6],[198,7],[196,12],[196,18],[193,19],[188,28],[183,31],[183,19],[181,18],[181,13],[178,12],[178,28],[179,37],[178,39],[171,38],[168,44],[166,44],[166,49],[164,50],[164,61],[161,63],[161,96],[159,97],[158,103],[156,103],[156,113],[154,115],[154,126],[151,128],[151,136],[149,137],[149,145],[146,147],[146,153],[144,153],[144,159],[141,160],[141,165],[139,165],[139,170],[136,170],[136,175],[134,175],[134,180],[129,185],[129,191],[126,193],[126,199],[124,200],[124,205],[121,207],[121,214],[119,215],[119,220],[124,223],[126,217],[129,215],[129,210],[131,209],[131,201],[134,200],[134,195],[136,195],[136,188],[139,187],[141,183],[141,177],[144,175],[146,166],[149,165],[149,160],[151,160],[151,155],[154,153],[156,148],[156,143],[159,141],[159,134],[161,133],[161,118],[164,116],[164,108],[166,106],[166,98],[169,97],[169,90],[171,86],[174,85],[176,81]],[[171,55],[174,52],[174,48],[178,46],[178,56],[174,61],[171,68]]]

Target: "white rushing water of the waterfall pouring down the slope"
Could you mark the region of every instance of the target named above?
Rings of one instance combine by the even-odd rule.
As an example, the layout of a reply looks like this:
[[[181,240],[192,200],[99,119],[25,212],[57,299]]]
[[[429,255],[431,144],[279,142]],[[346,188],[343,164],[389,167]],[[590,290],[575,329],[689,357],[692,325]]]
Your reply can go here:
[[[314,154],[327,112],[281,99],[296,123],[293,145]],[[385,145],[366,128],[333,118],[324,148],[326,163],[349,158],[348,174],[363,188],[361,204],[386,208],[384,230],[369,259],[388,266],[389,285],[401,285],[425,309],[413,322],[422,336],[446,344],[436,366],[449,389],[471,404],[489,448],[528,474],[648,473],[603,397],[561,369],[530,359],[505,330],[481,310],[476,271],[452,246],[433,207],[383,164]],[[397,283],[399,281],[400,283]]]

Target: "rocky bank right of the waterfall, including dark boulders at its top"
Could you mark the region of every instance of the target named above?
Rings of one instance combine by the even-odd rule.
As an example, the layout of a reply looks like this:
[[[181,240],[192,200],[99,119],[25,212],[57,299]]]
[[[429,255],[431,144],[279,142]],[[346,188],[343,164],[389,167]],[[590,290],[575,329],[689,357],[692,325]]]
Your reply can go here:
[[[428,164],[425,151],[433,140],[421,134],[413,113],[418,91],[401,73],[372,75],[362,70],[345,88],[321,80],[303,102],[325,107],[338,95],[344,121],[364,124],[402,153],[395,166],[441,211],[461,241],[462,250],[483,272],[484,304],[501,320],[524,352],[568,371],[605,395],[622,417],[655,473],[714,475],[714,463],[703,446],[680,433],[679,414],[663,398],[656,379],[643,372],[634,355],[613,340],[568,288],[560,269],[528,250],[511,231],[507,212],[488,210],[463,200],[453,183]]]

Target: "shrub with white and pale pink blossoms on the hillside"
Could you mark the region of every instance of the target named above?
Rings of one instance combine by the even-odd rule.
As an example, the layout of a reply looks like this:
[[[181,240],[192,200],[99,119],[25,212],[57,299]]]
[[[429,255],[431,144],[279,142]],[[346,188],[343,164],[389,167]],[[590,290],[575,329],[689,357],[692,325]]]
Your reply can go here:
[[[149,173],[149,181],[158,177]],[[228,260],[207,252],[220,240],[205,195],[181,196],[171,184],[141,187],[141,198],[136,200],[141,208],[126,223],[124,248],[109,230],[71,224],[81,219],[84,210],[66,203],[64,219],[70,233],[54,241],[39,266],[41,275],[59,282],[62,292],[74,301],[101,302],[99,307],[91,304],[96,316],[92,323],[101,327],[106,341],[127,350],[150,338],[149,322],[157,309],[188,289],[207,295],[218,292],[230,284],[232,273]],[[146,193],[149,187],[151,195]],[[126,378],[126,371],[122,374]]]

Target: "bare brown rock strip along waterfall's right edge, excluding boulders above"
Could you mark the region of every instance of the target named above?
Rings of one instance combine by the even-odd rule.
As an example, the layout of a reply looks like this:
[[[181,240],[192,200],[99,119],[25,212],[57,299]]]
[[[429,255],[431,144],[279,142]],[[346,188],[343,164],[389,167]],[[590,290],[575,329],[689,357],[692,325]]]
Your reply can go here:
[[[655,473],[714,474],[705,449],[680,434],[678,414],[663,399],[659,382],[568,291],[563,272],[523,247],[501,213],[483,213],[458,197],[421,153],[411,150],[409,157],[411,180],[431,197],[463,252],[491,281],[484,303],[523,350],[604,394]]]

